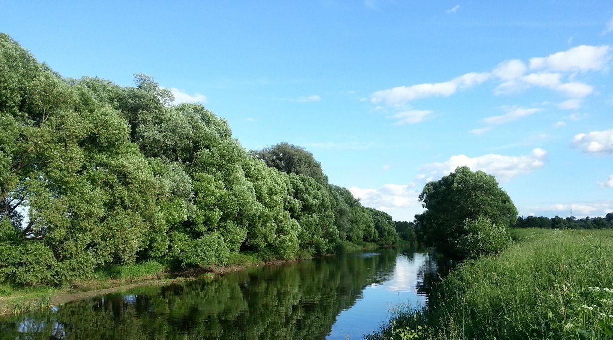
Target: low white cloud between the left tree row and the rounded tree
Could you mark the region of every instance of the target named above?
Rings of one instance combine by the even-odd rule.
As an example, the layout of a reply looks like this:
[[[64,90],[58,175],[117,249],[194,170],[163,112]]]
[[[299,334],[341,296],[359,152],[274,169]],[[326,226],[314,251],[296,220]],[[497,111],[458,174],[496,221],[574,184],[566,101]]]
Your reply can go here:
[[[385,211],[401,221],[413,221],[413,216],[421,212],[419,192],[415,184],[385,184],[379,189],[361,189],[349,187],[349,191],[360,199],[362,205]]]

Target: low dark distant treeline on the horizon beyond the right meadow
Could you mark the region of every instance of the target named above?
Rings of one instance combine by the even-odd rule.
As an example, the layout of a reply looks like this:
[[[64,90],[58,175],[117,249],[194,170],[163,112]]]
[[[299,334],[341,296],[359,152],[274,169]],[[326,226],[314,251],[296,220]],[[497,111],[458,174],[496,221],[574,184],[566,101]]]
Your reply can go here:
[[[555,216],[550,219],[544,216],[517,217],[516,228],[546,228],[546,229],[613,229],[613,213],[606,217],[576,217],[562,218]]]

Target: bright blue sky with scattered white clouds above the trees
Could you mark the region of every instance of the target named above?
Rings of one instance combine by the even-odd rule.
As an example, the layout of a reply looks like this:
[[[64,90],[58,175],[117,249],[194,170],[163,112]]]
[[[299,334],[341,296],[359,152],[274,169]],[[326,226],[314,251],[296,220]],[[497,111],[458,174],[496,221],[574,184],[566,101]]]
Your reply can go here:
[[[613,211],[611,1],[2,1],[0,31],[64,77],[151,75],[245,148],[304,146],[398,220],[457,165],[526,216]]]

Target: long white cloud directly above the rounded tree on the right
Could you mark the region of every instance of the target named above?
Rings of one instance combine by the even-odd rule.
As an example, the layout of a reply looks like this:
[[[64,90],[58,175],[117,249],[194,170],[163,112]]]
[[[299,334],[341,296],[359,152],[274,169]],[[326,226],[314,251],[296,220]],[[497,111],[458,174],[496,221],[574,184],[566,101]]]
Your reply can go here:
[[[496,176],[501,182],[509,181],[522,173],[530,173],[545,165],[547,151],[541,148],[532,150],[530,155],[504,156],[501,154],[485,154],[478,157],[468,157],[463,154],[449,157],[445,162],[435,162],[422,166],[424,173],[419,178],[440,178],[466,165],[471,170],[482,170]]]

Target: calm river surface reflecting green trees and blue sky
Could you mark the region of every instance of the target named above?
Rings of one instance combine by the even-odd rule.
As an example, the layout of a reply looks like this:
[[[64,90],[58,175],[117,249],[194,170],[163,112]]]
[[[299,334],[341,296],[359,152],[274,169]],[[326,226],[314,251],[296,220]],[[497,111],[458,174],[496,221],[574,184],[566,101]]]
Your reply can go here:
[[[442,263],[384,249],[251,268],[0,319],[0,338],[361,339],[398,305],[427,306]]]

